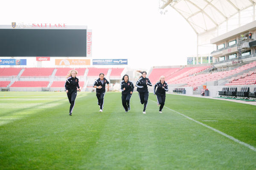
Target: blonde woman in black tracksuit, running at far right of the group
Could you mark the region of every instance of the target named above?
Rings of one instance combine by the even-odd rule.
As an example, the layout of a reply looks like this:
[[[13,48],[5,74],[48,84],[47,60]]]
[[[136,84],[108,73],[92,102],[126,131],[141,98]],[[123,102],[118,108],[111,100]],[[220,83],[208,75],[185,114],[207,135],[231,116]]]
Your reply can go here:
[[[156,92],[157,87],[157,92]],[[160,81],[154,86],[154,95],[157,95],[157,106],[160,105],[159,112],[162,113],[162,109],[164,106],[166,92],[168,92],[168,84],[165,82],[165,77],[160,76]]]

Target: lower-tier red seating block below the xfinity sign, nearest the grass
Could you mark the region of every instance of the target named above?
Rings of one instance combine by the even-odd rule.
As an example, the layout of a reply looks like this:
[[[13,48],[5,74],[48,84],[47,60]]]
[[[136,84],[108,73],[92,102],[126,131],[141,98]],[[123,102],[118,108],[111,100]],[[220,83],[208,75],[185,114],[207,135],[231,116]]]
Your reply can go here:
[[[49,81],[15,81],[11,87],[47,87]]]

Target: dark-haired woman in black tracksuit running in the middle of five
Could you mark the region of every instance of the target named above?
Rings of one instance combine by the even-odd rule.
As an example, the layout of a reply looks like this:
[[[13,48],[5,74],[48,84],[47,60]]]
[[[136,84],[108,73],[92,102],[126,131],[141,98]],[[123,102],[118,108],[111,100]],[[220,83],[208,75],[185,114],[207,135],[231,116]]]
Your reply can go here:
[[[121,90],[122,90],[122,105],[125,109],[125,112],[131,109],[130,107],[130,99],[134,89],[134,84],[129,81],[129,76],[124,75],[121,82]]]

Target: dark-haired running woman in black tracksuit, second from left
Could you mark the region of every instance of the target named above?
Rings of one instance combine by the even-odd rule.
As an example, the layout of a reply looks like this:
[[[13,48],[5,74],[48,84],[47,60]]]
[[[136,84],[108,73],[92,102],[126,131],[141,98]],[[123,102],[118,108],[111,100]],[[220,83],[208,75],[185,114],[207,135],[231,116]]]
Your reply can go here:
[[[108,84],[108,91],[109,91],[109,82],[106,78],[104,78],[104,76],[105,75],[103,73],[100,73],[99,78],[96,81],[94,81],[94,84],[93,84],[93,87],[96,88],[96,96],[98,98],[99,112],[103,112],[106,84]]]

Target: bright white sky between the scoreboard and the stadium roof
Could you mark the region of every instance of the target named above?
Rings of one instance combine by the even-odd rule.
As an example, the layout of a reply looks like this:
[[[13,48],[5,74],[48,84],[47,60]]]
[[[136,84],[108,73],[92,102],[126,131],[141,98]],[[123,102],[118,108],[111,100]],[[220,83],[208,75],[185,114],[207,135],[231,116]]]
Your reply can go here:
[[[0,25],[65,23],[93,30],[92,58],[124,58],[137,68],[186,65],[196,54],[196,34],[159,0],[3,0]]]

